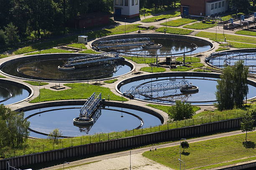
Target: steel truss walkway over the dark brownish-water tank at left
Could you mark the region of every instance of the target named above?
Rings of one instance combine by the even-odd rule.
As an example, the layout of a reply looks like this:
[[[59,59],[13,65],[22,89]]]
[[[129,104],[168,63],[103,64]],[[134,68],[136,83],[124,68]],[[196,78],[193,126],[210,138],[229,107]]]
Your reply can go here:
[[[123,59],[123,57],[120,57],[119,54],[115,52],[109,52],[106,54],[84,55],[84,56],[69,58],[69,60],[64,64],[64,67],[71,67],[74,65],[90,64],[95,62],[103,62],[103,61],[119,60],[119,59]]]

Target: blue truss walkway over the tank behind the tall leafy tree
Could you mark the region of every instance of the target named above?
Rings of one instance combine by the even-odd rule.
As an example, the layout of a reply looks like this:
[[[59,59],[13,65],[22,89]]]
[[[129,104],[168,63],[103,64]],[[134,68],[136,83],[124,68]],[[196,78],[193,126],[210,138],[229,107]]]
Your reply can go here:
[[[134,95],[145,95],[145,94],[150,94],[152,92],[180,89],[186,86],[190,86],[187,80],[170,80],[170,81],[157,82],[152,84],[147,83],[147,84],[141,84],[138,86],[133,86],[131,87],[130,90],[128,90],[123,95],[132,97]]]

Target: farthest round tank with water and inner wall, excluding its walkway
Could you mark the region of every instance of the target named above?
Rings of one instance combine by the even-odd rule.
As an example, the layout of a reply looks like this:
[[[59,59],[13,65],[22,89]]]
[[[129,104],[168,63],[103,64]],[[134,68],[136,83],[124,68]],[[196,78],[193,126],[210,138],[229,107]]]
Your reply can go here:
[[[92,42],[91,46],[97,48],[97,43],[104,40],[125,40],[130,38],[143,38],[147,37],[154,43],[150,45],[133,44],[128,46],[113,46],[100,49],[102,52],[115,51],[126,56],[144,56],[144,57],[166,57],[190,55],[205,52],[210,50],[213,45],[211,42],[184,35],[169,35],[169,34],[129,34],[129,35],[115,35],[103,37]]]

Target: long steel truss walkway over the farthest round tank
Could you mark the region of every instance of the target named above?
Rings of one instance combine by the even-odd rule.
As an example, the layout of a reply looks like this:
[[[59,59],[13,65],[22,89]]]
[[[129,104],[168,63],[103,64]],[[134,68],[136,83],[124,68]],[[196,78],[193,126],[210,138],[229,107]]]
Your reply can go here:
[[[143,45],[151,42],[150,38],[142,37],[142,38],[128,38],[121,40],[102,40],[97,45],[95,45],[98,49],[100,48],[108,48],[108,47],[121,47],[121,46],[130,46],[130,45]]]

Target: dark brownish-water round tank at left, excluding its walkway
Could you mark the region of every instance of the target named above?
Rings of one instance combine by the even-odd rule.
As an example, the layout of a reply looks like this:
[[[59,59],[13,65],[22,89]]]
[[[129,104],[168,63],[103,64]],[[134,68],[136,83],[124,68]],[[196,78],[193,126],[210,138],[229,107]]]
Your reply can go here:
[[[3,74],[29,80],[45,81],[87,81],[100,80],[127,74],[133,70],[133,64],[125,60],[96,62],[87,65],[75,65],[75,69],[58,69],[70,57],[82,54],[47,54],[19,57],[0,65]]]

